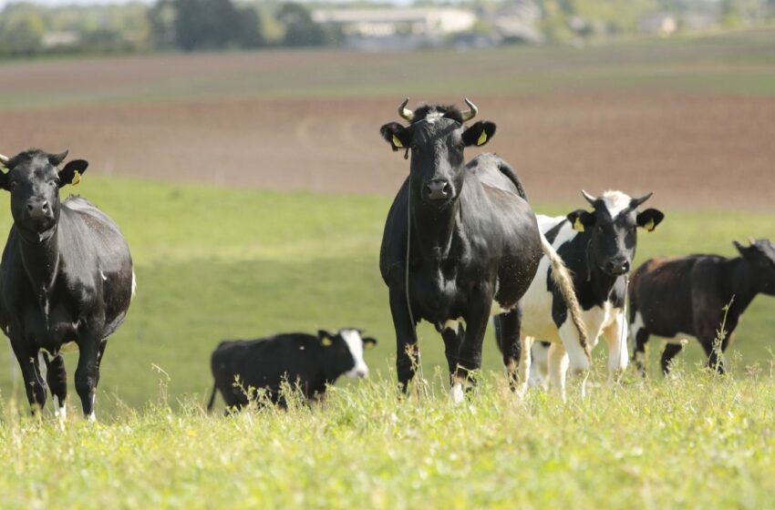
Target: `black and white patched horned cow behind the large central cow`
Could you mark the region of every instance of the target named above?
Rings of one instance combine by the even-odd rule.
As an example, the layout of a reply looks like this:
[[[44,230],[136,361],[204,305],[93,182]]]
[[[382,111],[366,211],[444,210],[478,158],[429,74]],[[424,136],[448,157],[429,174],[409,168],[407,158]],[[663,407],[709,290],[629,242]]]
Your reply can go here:
[[[624,305],[626,275],[635,258],[636,229],[654,230],[664,215],[656,209],[637,211],[651,197],[650,193],[639,199],[632,199],[621,191],[606,191],[599,198],[583,193],[594,208],[592,212],[578,209],[557,218],[539,216],[538,224],[573,273],[573,288],[584,311],[587,335],[594,344],[601,333],[605,335],[609,381],[613,381],[616,373],[627,366]],[[531,369],[533,339],[551,342],[547,360],[549,378],[564,398],[565,372],[569,367],[573,372],[584,372],[588,360],[550,272],[548,261],[542,260],[524,297],[520,380],[524,392]],[[584,396],[585,377],[581,393]]]

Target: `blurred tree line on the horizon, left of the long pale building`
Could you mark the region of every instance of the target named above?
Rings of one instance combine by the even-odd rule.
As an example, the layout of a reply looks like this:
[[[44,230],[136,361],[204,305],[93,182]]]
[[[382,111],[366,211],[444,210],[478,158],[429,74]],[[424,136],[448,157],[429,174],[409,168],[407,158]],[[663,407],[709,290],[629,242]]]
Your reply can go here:
[[[264,46],[335,46],[341,31],[315,23],[305,5],[233,0],[158,0],[156,4],[6,5],[0,56],[130,53]]]

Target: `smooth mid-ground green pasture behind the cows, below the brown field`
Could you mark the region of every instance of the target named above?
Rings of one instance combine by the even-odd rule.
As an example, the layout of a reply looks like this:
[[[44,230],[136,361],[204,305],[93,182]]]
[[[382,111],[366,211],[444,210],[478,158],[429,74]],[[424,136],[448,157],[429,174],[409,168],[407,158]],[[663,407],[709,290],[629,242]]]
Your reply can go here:
[[[135,260],[138,293],[129,318],[110,339],[103,362],[98,413],[103,420],[123,405],[141,406],[159,396],[171,403],[199,402],[212,379],[209,356],[222,339],[253,338],[278,331],[316,331],[358,326],[376,336],[367,352],[377,379],[395,381],[395,338],[387,288],[377,267],[379,243],[390,200],[369,196],[321,196],[253,189],[175,185],[137,179],[88,177],[78,192],[121,226]],[[66,189],[67,191],[67,189]],[[657,199],[653,205],[659,207]],[[584,204],[542,206],[563,214]],[[734,253],[731,240],[775,237],[773,217],[733,212],[665,210],[653,233],[641,233],[638,261],[662,254],[709,251]],[[0,230],[7,231],[7,199],[0,203]],[[775,300],[761,296],[739,326],[729,352],[735,372],[768,365],[775,347]],[[10,349],[0,348],[0,394],[25,403]],[[604,342],[603,342],[604,343]],[[601,345],[603,345],[601,343]],[[651,342],[653,375],[656,351]],[[446,366],[442,342],[425,324],[420,329],[427,375]],[[604,347],[598,373],[604,379]],[[484,370],[500,377],[501,362],[491,332],[485,341]],[[699,360],[690,345],[685,361]],[[70,403],[78,406],[70,367]],[[498,378],[496,377],[496,379]],[[343,382],[343,384],[354,385]]]

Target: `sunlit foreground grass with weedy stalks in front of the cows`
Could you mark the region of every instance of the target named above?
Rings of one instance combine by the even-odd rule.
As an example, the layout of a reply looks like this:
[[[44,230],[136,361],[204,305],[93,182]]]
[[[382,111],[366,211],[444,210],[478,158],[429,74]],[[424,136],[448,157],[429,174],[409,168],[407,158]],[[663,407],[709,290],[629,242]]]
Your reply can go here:
[[[64,431],[5,406],[4,508],[739,508],[772,506],[775,382],[683,367],[585,402],[502,380],[468,403],[389,382],[224,418],[188,402]]]

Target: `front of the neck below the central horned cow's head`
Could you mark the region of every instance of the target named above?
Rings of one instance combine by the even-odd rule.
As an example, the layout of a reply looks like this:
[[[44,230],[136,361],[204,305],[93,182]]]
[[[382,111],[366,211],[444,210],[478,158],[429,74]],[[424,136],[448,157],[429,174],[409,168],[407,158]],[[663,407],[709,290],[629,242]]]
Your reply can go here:
[[[429,208],[420,199],[412,201],[411,242],[419,255],[435,262],[448,259],[460,215],[460,196],[441,210]]]

